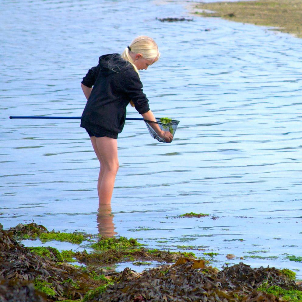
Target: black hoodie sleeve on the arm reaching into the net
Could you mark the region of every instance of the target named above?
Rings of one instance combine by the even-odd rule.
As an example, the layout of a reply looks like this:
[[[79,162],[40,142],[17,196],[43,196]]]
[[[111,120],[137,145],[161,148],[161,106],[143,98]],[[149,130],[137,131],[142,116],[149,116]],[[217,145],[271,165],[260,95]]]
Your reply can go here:
[[[139,114],[146,113],[150,110],[149,100],[142,91],[142,82],[138,75],[132,76],[126,80],[125,90]]]

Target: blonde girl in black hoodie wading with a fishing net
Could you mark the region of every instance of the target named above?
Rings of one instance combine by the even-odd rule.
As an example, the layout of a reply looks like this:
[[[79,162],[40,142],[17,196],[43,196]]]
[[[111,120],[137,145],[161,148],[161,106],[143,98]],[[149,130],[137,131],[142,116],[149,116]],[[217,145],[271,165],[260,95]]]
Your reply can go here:
[[[120,54],[99,58],[83,78],[81,87],[87,103],[81,117],[81,127],[88,132],[93,149],[100,161],[97,192],[100,204],[111,203],[116,173],[118,172],[118,134],[125,124],[126,106],[132,106],[145,120],[156,121],[142,91],[139,70],[147,69],[158,60],[160,53],[154,40],[139,36]],[[93,88],[92,88],[93,87]],[[173,139],[169,131],[150,126],[166,142]]]

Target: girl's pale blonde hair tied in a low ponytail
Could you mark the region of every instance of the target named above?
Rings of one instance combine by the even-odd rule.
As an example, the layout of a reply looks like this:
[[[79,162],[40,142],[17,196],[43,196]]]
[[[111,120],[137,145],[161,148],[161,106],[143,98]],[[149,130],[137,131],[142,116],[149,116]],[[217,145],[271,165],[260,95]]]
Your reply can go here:
[[[121,54],[121,57],[131,63],[138,75],[139,71],[134,64],[132,57],[130,56],[130,51],[135,54],[141,54],[147,60],[155,60],[160,57],[158,46],[152,38],[148,36],[138,36],[137,38],[135,38],[130,43],[130,45],[125,48],[125,50]],[[132,107],[134,107],[132,101],[130,101],[130,104]]]

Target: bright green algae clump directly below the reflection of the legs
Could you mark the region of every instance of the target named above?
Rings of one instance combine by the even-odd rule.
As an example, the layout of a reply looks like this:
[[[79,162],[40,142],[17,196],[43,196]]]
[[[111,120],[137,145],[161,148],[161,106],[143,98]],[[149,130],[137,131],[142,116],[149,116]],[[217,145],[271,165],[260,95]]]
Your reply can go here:
[[[101,237],[98,242],[93,243],[91,247],[95,250],[125,250],[128,248],[134,248],[140,246],[136,239],[126,237]]]

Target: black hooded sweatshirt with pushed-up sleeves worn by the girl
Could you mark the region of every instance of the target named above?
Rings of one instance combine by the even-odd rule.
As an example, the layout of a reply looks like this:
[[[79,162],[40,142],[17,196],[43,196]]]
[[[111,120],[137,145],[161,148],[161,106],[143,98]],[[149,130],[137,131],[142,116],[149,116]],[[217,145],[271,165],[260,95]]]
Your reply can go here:
[[[125,124],[126,107],[132,100],[135,109],[146,113],[148,99],[132,65],[120,54],[106,54],[89,69],[82,84],[92,87],[81,117],[81,127],[107,137],[117,138]]]

